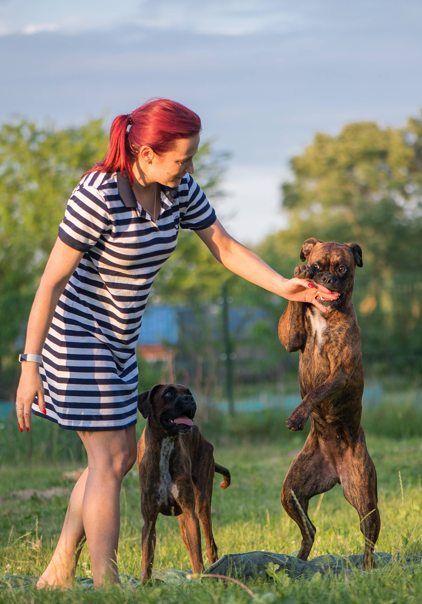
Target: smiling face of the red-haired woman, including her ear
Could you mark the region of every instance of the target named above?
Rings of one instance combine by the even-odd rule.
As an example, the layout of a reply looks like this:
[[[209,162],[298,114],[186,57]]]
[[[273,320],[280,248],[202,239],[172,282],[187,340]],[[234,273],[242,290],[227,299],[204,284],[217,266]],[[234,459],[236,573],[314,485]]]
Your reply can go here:
[[[183,176],[193,174],[193,156],[198,152],[200,135],[179,138],[174,148],[157,155],[150,147],[141,147],[137,164],[149,182],[159,182],[166,187],[178,187]]]

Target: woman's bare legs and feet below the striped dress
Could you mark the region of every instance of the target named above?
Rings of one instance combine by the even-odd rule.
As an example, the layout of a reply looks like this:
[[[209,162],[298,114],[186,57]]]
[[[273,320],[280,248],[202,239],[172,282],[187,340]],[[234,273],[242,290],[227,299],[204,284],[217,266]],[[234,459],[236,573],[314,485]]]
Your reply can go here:
[[[88,467],[74,486],[56,551],[37,587],[72,585],[86,536],[95,585],[118,580],[115,552],[120,486],[136,460],[135,426],[79,435],[88,454]]]

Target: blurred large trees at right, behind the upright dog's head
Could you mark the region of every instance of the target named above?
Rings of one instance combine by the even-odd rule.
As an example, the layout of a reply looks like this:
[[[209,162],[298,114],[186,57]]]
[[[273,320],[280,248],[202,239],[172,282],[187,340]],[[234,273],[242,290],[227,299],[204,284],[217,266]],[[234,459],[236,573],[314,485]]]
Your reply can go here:
[[[318,133],[291,170],[282,185],[288,229],[259,252],[288,276],[308,237],[359,243],[355,307],[364,352],[381,364],[420,364],[422,113],[399,129],[362,122],[334,137]]]

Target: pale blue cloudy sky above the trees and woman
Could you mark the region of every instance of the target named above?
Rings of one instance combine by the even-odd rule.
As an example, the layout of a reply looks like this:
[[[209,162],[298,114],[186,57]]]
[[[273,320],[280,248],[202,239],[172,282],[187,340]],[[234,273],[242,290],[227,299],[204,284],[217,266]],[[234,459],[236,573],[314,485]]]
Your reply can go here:
[[[421,25],[420,0],[0,0],[0,121],[109,126],[174,98],[232,153],[217,213],[256,244],[314,133],[417,114]]]

